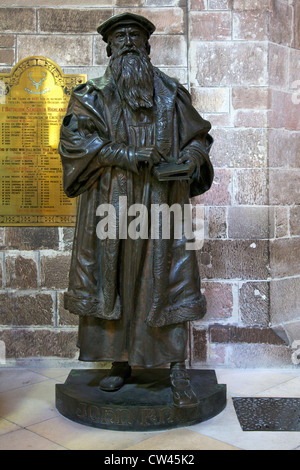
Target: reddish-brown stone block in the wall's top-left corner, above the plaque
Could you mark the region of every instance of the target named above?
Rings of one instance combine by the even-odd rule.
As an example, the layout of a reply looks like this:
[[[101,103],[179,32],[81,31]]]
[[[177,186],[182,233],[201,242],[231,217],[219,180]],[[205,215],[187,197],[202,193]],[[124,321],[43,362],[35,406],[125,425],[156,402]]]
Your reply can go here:
[[[0,8],[1,33],[35,33],[34,8]]]

